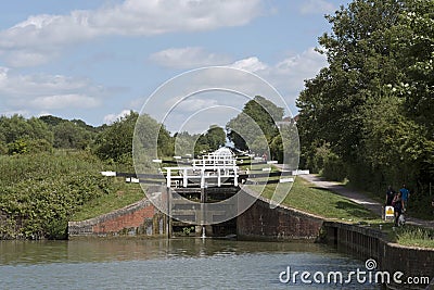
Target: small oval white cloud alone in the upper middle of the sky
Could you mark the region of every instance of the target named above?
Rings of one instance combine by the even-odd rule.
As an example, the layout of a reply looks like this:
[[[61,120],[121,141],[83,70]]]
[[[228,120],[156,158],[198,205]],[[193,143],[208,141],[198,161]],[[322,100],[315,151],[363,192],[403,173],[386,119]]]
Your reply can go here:
[[[222,54],[209,53],[203,48],[170,48],[151,54],[150,60],[167,67],[193,68],[228,64],[230,59]]]

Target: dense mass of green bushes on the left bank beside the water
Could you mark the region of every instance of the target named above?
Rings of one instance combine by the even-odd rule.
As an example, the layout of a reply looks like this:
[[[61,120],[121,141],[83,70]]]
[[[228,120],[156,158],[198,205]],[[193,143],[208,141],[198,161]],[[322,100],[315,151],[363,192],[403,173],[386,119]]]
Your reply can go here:
[[[66,237],[69,217],[86,202],[112,190],[103,164],[86,152],[0,156],[2,238]]]

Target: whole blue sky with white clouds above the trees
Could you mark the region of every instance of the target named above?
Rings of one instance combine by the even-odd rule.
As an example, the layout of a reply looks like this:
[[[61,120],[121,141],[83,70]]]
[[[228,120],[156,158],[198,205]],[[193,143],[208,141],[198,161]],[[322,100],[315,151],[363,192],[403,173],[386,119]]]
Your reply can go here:
[[[318,37],[331,30],[324,14],[346,3],[1,1],[0,115],[51,114],[99,126],[130,110],[151,115],[158,110],[166,112],[169,106],[163,104],[180,98],[181,91],[205,88],[205,83],[225,88],[230,83],[229,88],[245,88],[246,96],[267,93],[250,83],[250,73],[259,77],[257,83],[269,84],[279,92],[286,104],[285,115],[295,115],[304,79],[327,66],[324,55],[315,51]],[[215,80],[218,70],[217,76],[207,70],[189,73],[209,66],[230,70],[222,71],[222,81]],[[245,71],[246,78],[233,77],[231,70]],[[201,73],[200,78],[194,72]],[[161,90],[179,75],[187,78],[181,77],[183,81],[171,91]],[[192,85],[195,81],[202,85]],[[219,112],[230,108],[225,117],[235,115],[247,100],[234,96],[228,90],[206,91],[182,99],[176,113],[166,114],[173,116],[167,127],[178,130],[177,125],[191,123],[192,130],[203,130],[197,123],[207,123],[205,127],[208,123],[225,125],[225,114]],[[149,105],[152,98],[161,105]]]

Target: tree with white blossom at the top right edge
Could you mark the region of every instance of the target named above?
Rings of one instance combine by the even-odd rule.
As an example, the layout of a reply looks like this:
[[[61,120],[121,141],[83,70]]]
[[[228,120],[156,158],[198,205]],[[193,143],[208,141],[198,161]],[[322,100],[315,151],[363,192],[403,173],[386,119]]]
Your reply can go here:
[[[403,78],[392,83],[396,96],[405,99],[408,117],[434,134],[434,2],[405,1],[399,23],[393,27],[394,49],[401,51],[398,62]]]

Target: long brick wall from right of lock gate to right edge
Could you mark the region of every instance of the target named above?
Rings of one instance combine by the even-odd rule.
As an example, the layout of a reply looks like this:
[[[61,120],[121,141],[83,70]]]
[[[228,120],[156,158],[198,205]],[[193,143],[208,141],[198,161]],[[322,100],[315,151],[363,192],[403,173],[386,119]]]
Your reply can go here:
[[[427,279],[432,279],[434,289],[434,249],[391,243],[384,232],[369,226],[328,222],[286,206],[270,209],[268,200],[259,198],[238,216],[237,232],[240,239],[327,241],[361,261],[374,260],[373,272],[391,274],[391,283],[385,285],[388,289],[425,289]],[[397,272],[404,274],[398,277],[403,283],[392,278]],[[419,283],[410,285],[409,277],[419,279]]]

